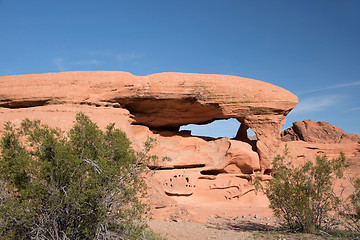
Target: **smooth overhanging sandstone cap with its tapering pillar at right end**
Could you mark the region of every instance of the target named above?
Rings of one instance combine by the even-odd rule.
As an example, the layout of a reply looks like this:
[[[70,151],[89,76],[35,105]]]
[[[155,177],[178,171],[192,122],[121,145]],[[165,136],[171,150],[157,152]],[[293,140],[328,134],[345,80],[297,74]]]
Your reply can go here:
[[[298,99],[269,83],[223,75],[125,72],[65,72],[0,77],[0,107],[59,104],[124,108],[135,124],[178,130],[189,123],[237,118],[238,140],[251,128],[260,168],[270,168],[285,116]]]

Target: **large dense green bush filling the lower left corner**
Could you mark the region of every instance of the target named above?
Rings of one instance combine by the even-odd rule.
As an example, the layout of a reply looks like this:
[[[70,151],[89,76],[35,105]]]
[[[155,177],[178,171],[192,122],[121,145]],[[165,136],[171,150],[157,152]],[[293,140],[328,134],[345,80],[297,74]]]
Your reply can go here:
[[[149,149],[147,144],[147,150]],[[137,239],[145,235],[151,159],[114,124],[79,113],[68,134],[28,119],[5,124],[0,156],[0,235],[5,239]]]

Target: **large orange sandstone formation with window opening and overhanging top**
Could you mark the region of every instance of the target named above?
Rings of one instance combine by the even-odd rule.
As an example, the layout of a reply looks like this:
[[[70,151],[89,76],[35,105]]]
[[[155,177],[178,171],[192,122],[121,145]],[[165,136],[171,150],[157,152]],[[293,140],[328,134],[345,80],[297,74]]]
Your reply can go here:
[[[170,203],[237,199],[243,199],[243,205],[266,205],[265,198],[254,195],[252,174],[269,177],[271,161],[282,144],[280,129],[297,102],[285,89],[235,76],[126,72],[5,76],[0,77],[0,135],[4,122],[16,124],[24,118],[68,130],[81,111],[101,128],[114,122],[136,150],[147,137],[157,139],[152,153],[171,161],[149,166],[154,172],[149,179],[158,197],[156,209]],[[178,131],[185,124],[228,118],[241,123],[234,139]],[[248,128],[256,140],[248,138]]]

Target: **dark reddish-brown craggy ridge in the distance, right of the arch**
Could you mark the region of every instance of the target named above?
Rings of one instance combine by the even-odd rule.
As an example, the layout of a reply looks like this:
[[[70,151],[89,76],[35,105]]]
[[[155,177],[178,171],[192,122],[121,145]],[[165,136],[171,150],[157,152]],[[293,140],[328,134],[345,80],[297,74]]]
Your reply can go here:
[[[291,128],[281,133],[281,139],[283,141],[301,140],[316,143],[360,143],[360,137],[356,134],[345,133],[339,127],[327,122],[314,122],[311,120],[294,122]]]

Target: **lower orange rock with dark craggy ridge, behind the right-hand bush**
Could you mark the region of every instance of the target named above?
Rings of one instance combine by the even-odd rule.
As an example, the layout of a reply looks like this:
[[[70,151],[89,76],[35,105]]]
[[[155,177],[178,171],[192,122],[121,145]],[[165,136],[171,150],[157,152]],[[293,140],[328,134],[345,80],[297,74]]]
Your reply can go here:
[[[343,152],[350,164],[347,177],[360,177],[360,136],[356,134],[345,133],[327,122],[305,120],[295,122],[291,128],[284,130],[281,139],[280,150],[286,146],[288,157],[295,165],[313,161],[319,155],[337,158]]]

